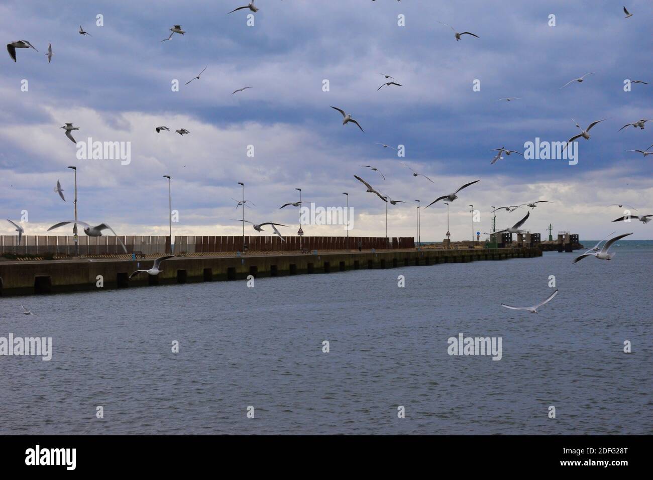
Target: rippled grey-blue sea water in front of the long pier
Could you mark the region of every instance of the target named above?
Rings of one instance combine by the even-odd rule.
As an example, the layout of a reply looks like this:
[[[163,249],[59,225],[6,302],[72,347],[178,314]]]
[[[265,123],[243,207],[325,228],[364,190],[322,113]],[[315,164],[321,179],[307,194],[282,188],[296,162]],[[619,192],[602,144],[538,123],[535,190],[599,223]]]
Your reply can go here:
[[[54,350],[0,357],[0,434],[651,434],[653,247],[614,251],[0,298]]]

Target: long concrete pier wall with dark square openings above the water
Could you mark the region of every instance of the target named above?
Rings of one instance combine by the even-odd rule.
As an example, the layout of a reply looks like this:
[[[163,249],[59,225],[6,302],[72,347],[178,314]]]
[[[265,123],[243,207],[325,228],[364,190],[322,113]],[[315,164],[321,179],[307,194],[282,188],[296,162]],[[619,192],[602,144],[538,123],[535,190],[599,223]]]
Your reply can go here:
[[[539,248],[423,249],[421,251],[393,249],[242,257],[179,256],[162,263],[163,272],[158,276],[140,274],[132,280],[128,280],[129,275],[134,270],[151,268],[153,259],[8,261],[0,262],[0,295],[31,295],[170,283],[242,280],[249,275],[255,278],[274,277],[541,256],[542,251]],[[103,287],[97,286],[99,281],[102,281]]]

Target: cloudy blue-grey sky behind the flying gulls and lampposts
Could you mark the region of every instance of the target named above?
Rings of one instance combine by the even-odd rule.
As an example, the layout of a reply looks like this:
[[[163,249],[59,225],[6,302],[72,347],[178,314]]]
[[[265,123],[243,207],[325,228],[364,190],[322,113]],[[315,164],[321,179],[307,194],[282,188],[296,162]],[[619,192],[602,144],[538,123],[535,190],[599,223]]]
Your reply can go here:
[[[277,221],[295,234],[303,199],[354,208],[353,235],[383,236],[385,204],[365,192],[362,176],[392,199],[390,236],[414,236],[422,204],[481,179],[451,204],[451,234],[471,233],[469,204],[481,212],[475,230],[490,231],[491,205],[550,200],[524,228],[545,234],[578,232],[603,238],[633,231],[653,238],[652,224],[613,224],[626,203],[653,213],[653,122],[645,130],[622,125],[653,118],[650,0],[628,0],[624,19],[615,1],[455,0],[245,0],[180,2],[5,0],[0,30],[6,42],[29,40],[39,52],[17,50],[18,62],[0,56],[0,210],[17,221],[29,213],[26,234],[44,234],[73,214],[72,170],[78,166],[79,218],[106,222],[119,234],[165,234],[168,185],[180,222],[175,234],[238,234],[234,199],[246,183],[256,207],[246,218]],[[96,25],[103,15],[104,26]],[[549,16],[555,15],[555,26]],[[405,26],[398,25],[403,15]],[[458,31],[471,31],[456,42]],[[92,37],[80,35],[83,25]],[[187,32],[170,41],[168,29]],[[44,55],[52,43],[48,65]],[[200,80],[184,86],[208,66]],[[377,88],[393,76],[402,87]],[[587,72],[582,84],[560,89]],[[624,80],[644,80],[624,91]],[[28,91],[21,87],[27,80]],[[180,82],[172,91],[172,82]],[[329,91],[323,91],[328,80]],[[479,80],[480,91],[473,91]],[[236,95],[234,89],[251,86]],[[502,97],[521,100],[497,102]],[[330,105],[351,112],[342,125]],[[490,165],[492,148],[524,150],[536,137],[564,141],[595,120],[590,140],[580,139],[579,161],[511,155]],[[59,129],[80,127],[78,141],[131,142],[131,163],[76,157]],[[170,132],[155,132],[167,125]],[[191,133],[180,136],[175,129]],[[404,145],[406,156],[374,142]],[[247,156],[253,145],[254,156]],[[652,149],[653,150],[653,149]],[[402,161],[423,176],[413,177]],[[361,165],[374,165],[387,180]],[[54,193],[60,180],[68,202]],[[422,210],[422,240],[441,240],[446,206]],[[525,210],[499,214],[497,227]],[[304,227],[306,234],[343,234],[342,227]],[[249,228],[249,232],[253,232]],[[60,234],[65,234],[62,230]],[[0,234],[12,234],[8,223]]]

